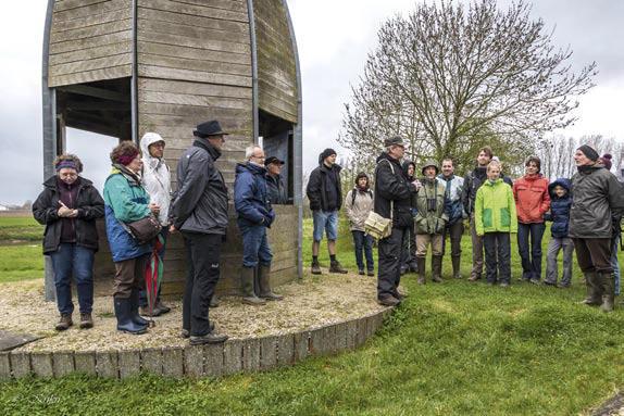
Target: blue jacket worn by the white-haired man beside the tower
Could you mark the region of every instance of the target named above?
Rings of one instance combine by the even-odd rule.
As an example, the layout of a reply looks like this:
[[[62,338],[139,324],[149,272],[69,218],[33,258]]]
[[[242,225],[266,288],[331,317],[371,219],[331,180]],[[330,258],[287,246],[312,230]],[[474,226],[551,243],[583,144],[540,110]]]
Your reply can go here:
[[[266,190],[266,168],[253,163],[238,163],[234,181],[234,207],[238,227],[271,227],[275,213]]]

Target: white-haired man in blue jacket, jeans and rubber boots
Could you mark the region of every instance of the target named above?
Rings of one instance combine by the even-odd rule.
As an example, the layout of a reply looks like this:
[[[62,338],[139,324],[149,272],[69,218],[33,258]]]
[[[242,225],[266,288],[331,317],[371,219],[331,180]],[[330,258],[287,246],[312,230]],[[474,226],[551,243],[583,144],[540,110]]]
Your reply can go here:
[[[240,283],[242,303],[263,305],[266,301],[279,301],[270,285],[273,253],[266,238],[266,228],[275,219],[266,187],[264,151],[250,146],[245,151],[246,161],[236,165],[234,181],[234,207],[238,215],[238,228],[242,234],[242,269]],[[258,269],[258,287],[255,270]]]

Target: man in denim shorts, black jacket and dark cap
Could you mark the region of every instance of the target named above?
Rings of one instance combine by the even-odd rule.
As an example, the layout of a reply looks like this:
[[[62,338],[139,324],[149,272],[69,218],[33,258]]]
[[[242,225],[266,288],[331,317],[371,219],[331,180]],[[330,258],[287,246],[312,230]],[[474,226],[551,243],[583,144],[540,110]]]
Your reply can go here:
[[[336,239],[338,238],[338,211],[342,205],[340,189],[341,167],[336,164],[336,151],[325,149],[319,155],[319,167],[310,174],[305,193],[310,200],[310,210],[314,223],[312,242],[312,274],[321,274],[319,264],[319,248],[323,231],[327,235],[329,251],[329,273],[347,273],[336,260]]]

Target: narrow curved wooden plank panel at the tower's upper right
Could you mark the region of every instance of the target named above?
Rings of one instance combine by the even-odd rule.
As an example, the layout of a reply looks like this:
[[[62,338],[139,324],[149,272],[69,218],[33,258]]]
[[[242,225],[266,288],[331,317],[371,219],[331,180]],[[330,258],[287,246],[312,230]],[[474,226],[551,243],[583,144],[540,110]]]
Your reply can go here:
[[[297,67],[283,0],[254,0],[259,108],[298,123]]]

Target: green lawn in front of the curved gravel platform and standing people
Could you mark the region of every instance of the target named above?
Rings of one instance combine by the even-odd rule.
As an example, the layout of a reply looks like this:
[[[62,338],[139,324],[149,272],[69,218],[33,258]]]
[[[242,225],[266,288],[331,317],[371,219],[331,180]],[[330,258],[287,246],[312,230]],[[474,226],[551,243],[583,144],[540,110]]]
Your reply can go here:
[[[340,225],[339,260],[354,269]],[[311,224],[305,224],[309,241]],[[545,247],[548,238],[545,238]],[[305,262],[310,244],[305,244]],[[462,269],[470,269],[470,238]],[[327,263],[323,244],[322,263]],[[584,289],[415,285],[365,346],[295,367],[223,379],[125,381],[72,376],[0,383],[5,415],[574,415],[623,385],[624,310],[577,304]],[[445,263],[445,275],[450,269]],[[330,276],[323,276],[332,285]]]

